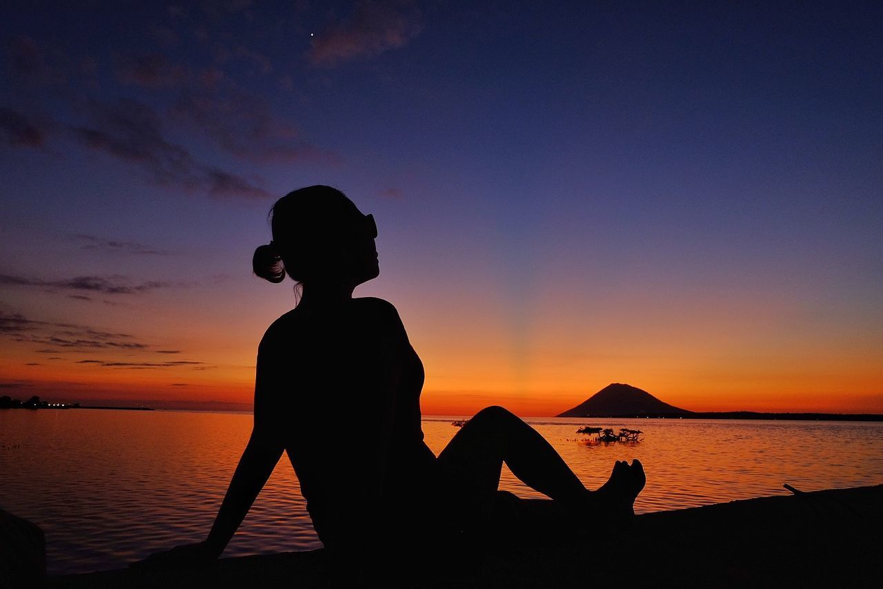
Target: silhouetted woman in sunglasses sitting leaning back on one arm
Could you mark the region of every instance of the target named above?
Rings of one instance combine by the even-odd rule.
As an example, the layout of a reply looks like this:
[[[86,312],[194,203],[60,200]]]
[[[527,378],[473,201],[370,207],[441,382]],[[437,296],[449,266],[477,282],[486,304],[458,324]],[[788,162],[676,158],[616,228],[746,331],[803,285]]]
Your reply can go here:
[[[382,551],[456,553],[499,508],[502,463],[577,518],[632,512],[645,482],[638,461],[616,463],[590,492],[501,407],[479,411],[436,457],[420,426],[423,364],[396,308],[352,296],[380,272],[374,218],[326,186],[291,192],[271,215],[273,240],[254,252],[254,273],[270,282],[287,273],[303,287],[300,302],[260,341],[252,436],[208,539],[152,559],[221,555],[283,452],[322,543],[362,564]]]

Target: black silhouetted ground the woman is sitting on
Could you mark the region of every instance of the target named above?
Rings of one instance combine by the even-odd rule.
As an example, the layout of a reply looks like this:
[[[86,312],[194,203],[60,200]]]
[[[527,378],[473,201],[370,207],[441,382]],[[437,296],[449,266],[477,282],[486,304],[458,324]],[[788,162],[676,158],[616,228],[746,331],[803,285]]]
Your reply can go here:
[[[548,501],[531,501],[546,509]],[[394,587],[879,586],[883,485],[762,497],[637,516],[629,529],[503,534],[474,566],[438,563]],[[200,570],[49,578],[80,587],[326,587],[324,551],[222,559]],[[352,586],[352,585],[349,585]]]

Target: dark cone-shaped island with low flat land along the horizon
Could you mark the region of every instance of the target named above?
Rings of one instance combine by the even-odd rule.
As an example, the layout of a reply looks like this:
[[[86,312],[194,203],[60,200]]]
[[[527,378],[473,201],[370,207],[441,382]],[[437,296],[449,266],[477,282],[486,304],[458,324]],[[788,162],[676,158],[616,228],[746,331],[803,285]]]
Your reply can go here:
[[[576,407],[555,417],[618,417],[675,419],[781,419],[819,421],[883,421],[875,413],[763,413],[759,411],[690,411],[660,401],[637,386],[613,383]]]

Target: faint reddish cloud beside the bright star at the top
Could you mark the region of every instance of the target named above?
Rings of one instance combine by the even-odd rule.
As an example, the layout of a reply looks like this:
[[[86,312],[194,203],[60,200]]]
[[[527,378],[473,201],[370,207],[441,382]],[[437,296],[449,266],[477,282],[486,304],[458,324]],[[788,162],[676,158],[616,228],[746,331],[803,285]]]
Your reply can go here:
[[[313,65],[336,65],[375,57],[402,47],[420,32],[420,12],[406,0],[358,0],[350,19],[313,37],[307,58]]]

